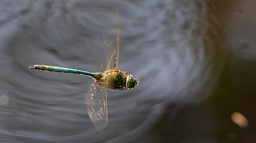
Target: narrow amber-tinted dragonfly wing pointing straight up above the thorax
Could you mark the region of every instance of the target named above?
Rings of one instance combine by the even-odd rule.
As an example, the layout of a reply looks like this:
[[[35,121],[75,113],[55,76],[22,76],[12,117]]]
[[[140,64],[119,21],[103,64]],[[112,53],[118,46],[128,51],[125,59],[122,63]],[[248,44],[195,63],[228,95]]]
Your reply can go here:
[[[113,53],[111,55],[111,58],[109,60],[109,63],[108,63],[108,67],[107,69],[108,70],[111,70],[111,69],[115,69],[115,68],[118,68],[118,58],[119,58],[119,28],[118,28],[118,25],[119,25],[119,11],[118,11],[118,8],[115,7],[115,12],[116,12],[116,29],[115,29],[115,44],[114,44],[114,49],[113,49]]]

